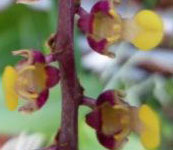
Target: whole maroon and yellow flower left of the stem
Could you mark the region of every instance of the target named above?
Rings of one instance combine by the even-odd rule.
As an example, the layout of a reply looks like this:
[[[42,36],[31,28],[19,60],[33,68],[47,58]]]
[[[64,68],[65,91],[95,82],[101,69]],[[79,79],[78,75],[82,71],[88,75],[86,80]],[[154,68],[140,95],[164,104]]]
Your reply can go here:
[[[27,103],[19,111],[33,112],[45,104],[49,88],[59,82],[59,70],[47,64],[45,56],[39,51],[20,50],[13,54],[23,56],[24,59],[15,67],[7,66],[3,73],[6,105],[9,110],[15,110],[21,98]]]

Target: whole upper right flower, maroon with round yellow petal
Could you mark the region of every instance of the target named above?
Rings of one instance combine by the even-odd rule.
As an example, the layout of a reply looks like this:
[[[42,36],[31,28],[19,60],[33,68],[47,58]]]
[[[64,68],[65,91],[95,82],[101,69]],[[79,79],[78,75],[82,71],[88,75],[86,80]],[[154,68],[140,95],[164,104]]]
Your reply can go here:
[[[86,34],[91,48],[98,53],[114,57],[109,46],[127,41],[141,50],[158,46],[163,39],[163,22],[150,10],[139,11],[133,18],[122,18],[109,0],[97,2],[91,12],[79,10],[79,28]]]

